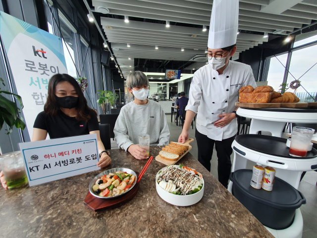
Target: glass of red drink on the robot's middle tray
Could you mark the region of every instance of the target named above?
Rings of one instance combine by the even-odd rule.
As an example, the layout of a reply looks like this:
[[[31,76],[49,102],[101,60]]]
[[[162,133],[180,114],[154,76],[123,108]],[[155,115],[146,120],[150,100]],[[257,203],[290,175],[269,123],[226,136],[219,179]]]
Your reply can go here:
[[[305,157],[315,130],[312,128],[295,126],[292,132],[289,155]]]

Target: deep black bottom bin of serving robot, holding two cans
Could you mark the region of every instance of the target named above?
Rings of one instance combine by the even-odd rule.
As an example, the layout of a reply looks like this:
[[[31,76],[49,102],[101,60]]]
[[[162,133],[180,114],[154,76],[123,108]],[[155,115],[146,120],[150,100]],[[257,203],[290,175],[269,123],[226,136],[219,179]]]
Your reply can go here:
[[[272,191],[255,189],[250,185],[252,170],[237,170],[230,174],[232,195],[264,226],[282,230],[293,223],[295,210],[306,204],[304,195],[277,177]]]

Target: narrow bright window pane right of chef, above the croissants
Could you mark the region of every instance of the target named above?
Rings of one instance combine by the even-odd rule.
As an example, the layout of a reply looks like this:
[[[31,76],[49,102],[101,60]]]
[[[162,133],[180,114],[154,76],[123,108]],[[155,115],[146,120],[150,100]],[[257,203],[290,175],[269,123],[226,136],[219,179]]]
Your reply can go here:
[[[287,55],[288,54],[286,53],[276,56],[276,58],[280,60],[284,66],[286,66]],[[279,85],[283,83],[285,68],[276,58],[272,57],[269,59],[270,62],[267,73],[267,85],[272,86],[273,89],[277,92],[280,88]]]

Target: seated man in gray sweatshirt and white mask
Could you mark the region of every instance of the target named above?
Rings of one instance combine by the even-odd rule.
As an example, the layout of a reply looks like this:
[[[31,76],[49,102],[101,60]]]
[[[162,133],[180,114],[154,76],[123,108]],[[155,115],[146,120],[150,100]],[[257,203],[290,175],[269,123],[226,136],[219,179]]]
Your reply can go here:
[[[127,86],[135,100],[121,108],[114,125],[114,139],[122,149],[136,159],[147,159],[146,150],[140,148],[139,134],[150,135],[150,145],[167,145],[169,130],[165,113],[159,103],[148,100],[149,79],[141,71],[128,75]]]

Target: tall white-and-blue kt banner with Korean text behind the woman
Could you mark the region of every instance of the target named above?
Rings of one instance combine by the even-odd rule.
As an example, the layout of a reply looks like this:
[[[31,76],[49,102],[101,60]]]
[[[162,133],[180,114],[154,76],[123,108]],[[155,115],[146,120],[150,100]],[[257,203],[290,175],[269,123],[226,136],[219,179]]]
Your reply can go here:
[[[0,11],[0,34],[30,138],[43,111],[49,79],[67,73],[61,38]]]

